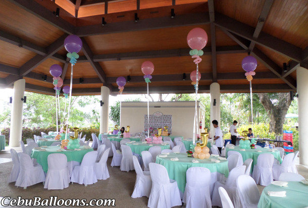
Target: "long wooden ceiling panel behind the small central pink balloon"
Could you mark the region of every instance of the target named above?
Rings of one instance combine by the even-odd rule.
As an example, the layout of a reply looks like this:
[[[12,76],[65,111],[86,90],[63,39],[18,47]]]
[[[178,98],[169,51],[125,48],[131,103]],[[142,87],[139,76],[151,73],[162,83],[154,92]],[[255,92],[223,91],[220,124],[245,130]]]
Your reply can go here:
[[[143,76],[141,64],[145,61],[151,61],[154,64],[152,75],[181,74],[196,70],[196,65],[191,57],[171,57],[158,59],[138,59],[138,60],[121,60],[99,62],[102,69],[109,77],[116,76]],[[199,63],[201,73],[212,72],[212,57],[202,56],[202,62]]]

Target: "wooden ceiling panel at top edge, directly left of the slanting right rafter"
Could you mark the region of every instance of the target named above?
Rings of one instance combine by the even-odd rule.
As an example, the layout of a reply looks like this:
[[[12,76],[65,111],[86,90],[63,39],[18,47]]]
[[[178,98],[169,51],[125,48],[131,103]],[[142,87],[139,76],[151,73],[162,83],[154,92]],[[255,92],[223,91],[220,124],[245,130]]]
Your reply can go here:
[[[265,0],[224,0],[214,1],[216,12],[255,27],[258,24]]]

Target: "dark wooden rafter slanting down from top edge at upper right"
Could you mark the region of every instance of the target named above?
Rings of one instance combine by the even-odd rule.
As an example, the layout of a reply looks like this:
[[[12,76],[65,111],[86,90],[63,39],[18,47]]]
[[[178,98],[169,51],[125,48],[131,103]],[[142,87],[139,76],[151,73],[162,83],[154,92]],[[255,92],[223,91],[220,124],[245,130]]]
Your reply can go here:
[[[265,1],[264,5],[263,5],[263,9],[262,9],[260,17],[259,17],[259,20],[258,20],[258,24],[256,24],[255,30],[254,30],[253,35],[252,35],[254,38],[259,37],[259,35],[260,35],[260,33],[263,29],[264,23],[265,23],[268,15],[270,13],[273,2],[274,2],[274,0],[266,0]],[[251,51],[253,49],[254,45],[255,45],[255,42],[250,42],[248,50]]]

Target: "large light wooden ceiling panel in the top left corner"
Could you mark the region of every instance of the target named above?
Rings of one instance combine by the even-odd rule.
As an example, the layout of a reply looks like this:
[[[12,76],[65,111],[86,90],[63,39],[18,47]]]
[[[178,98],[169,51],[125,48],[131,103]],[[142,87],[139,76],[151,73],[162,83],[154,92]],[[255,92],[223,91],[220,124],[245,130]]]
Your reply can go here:
[[[0,30],[46,47],[64,32],[26,12],[8,0],[0,1]]]

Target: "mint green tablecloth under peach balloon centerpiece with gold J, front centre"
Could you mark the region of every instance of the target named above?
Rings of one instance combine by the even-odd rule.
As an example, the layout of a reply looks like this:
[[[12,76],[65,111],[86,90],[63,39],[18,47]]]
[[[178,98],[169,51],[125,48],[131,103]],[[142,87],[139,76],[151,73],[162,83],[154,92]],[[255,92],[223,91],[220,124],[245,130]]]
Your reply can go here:
[[[178,158],[178,161],[171,161],[171,158]],[[191,167],[203,167],[207,168],[211,171],[211,173],[219,172],[224,174],[225,177],[229,175],[228,169],[228,161],[221,160],[220,163],[211,162],[211,159],[218,160],[217,157],[210,157],[209,159],[195,159],[199,161],[199,163],[192,163],[191,161],[194,158],[187,157],[185,153],[170,153],[167,158],[160,158],[159,156],[156,158],[156,163],[165,166],[167,169],[168,175],[170,179],[174,179],[178,183],[178,187],[182,193],[185,190],[186,184],[186,171]],[[196,176],[200,177],[200,176]]]

